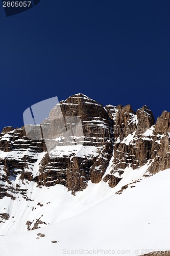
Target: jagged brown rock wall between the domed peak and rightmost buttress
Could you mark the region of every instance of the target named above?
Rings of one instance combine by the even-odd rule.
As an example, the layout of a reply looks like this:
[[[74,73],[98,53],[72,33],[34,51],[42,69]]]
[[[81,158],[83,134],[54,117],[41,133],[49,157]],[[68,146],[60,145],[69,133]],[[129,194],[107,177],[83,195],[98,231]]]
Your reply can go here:
[[[127,166],[135,169],[151,159],[153,138],[152,130],[149,129],[154,124],[154,116],[147,106],[144,105],[136,113],[130,105],[124,108],[118,106],[113,125],[115,134],[113,171],[123,170]],[[147,130],[149,132],[145,133]]]

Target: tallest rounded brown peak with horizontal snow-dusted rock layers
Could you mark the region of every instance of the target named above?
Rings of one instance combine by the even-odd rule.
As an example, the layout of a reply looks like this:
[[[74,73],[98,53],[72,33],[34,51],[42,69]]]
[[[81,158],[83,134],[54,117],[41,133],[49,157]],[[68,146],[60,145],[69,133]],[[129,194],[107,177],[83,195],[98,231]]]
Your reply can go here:
[[[50,113],[51,119],[55,117],[57,106]],[[66,117],[70,120],[71,116],[81,118],[84,134],[83,154],[74,153],[74,150],[69,154],[64,146],[59,146],[59,151],[63,151],[63,154],[58,154],[52,160],[46,154],[41,161],[36,181],[38,185],[45,186],[63,184],[75,193],[84,189],[89,180],[93,183],[102,180],[113,152],[109,134],[112,123],[103,106],[83,94],[73,95],[61,101],[60,107],[65,120]],[[77,139],[77,144],[80,140],[82,138]],[[76,145],[69,146],[76,148]]]

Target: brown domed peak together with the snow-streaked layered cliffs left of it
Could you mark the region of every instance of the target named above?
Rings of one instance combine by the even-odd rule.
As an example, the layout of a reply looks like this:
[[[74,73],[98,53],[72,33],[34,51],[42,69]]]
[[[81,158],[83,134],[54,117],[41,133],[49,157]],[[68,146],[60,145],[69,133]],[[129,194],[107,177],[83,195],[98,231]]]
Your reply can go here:
[[[23,182],[34,181],[39,186],[62,184],[72,193],[84,189],[89,180],[93,183],[102,180],[113,152],[112,136],[109,134],[112,121],[109,115],[101,104],[83,94],[61,101],[60,107],[63,116],[81,118],[83,153],[76,155],[72,150],[69,154],[60,146],[60,153],[63,153],[50,159],[42,139],[28,139],[24,127],[6,127],[0,137],[1,180],[8,182],[11,191],[14,188],[10,186],[10,179],[17,176]],[[50,117],[55,116],[56,109],[57,106],[52,109]],[[15,194],[19,187],[16,189]],[[7,194],[8,188],[2,185],[1,190],[1,197],[10,196],[9,192]]]

